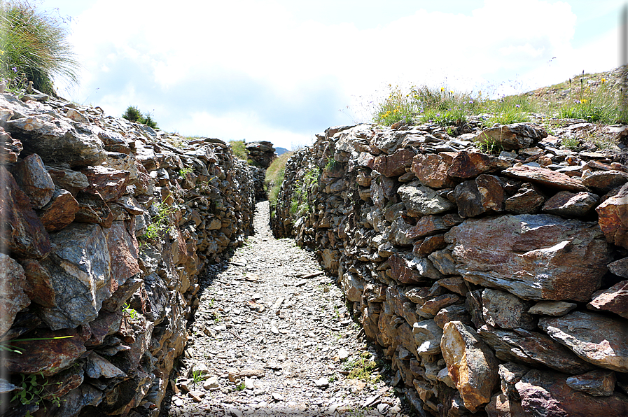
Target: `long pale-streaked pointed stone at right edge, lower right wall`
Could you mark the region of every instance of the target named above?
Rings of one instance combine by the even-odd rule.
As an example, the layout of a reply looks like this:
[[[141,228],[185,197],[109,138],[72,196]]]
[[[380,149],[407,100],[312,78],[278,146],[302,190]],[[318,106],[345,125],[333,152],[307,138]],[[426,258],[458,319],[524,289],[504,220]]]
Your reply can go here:
[[[628,372],[628,326],[624,319],[573,311],[562,317],[540,318],[538,327],[587,362]]]

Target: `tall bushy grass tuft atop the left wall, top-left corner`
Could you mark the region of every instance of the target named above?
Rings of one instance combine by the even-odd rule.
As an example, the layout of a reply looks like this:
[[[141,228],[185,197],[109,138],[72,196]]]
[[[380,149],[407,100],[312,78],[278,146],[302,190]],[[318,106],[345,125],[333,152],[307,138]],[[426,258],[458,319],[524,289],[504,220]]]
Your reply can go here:
[[[80,65],[61,17],[10,0],[0,3],[0,34],[0,77],[8,80],[8,91],[32,81],[36,90],[56,96],[54,78],[78,85]]]

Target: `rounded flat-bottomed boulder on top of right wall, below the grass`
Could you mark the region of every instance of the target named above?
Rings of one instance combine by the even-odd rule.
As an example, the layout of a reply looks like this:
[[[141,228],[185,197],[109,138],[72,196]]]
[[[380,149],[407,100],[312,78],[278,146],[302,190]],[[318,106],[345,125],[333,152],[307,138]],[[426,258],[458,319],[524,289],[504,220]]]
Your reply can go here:
[[[547,137],[543,127],[534,123],[512,123],[484,129],[473,141],[501,146],[504,150],[531,148],[534,143]]]

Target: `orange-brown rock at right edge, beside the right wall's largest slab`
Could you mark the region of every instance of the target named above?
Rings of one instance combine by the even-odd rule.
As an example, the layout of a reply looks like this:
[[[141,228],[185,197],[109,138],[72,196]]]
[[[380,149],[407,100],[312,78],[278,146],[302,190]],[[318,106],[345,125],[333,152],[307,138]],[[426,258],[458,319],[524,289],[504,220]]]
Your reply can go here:
[[[628,248],[628,184],[613,197],[606,199],[595,211],[606,240]]]

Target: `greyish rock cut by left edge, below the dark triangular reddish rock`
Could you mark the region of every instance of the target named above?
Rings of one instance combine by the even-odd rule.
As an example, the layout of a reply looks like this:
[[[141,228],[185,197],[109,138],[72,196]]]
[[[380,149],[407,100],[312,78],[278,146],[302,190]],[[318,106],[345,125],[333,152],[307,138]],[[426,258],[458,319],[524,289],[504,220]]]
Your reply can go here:
[[[11,328],[18,311],[31,304],[24,269],[8,255],[0,253],[0,336]]]

